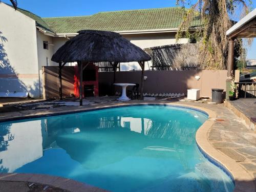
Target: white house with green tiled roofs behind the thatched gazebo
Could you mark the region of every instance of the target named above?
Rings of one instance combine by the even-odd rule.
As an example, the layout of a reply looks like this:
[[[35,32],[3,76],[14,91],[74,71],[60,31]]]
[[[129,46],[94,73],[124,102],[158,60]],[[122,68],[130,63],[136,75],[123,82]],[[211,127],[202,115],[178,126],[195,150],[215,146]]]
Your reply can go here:
[[[115,31],[141,48],[156,47],[177,43],[175,35],[183,16],[184,9],[170,7],[42,18],[0,3],[0,93],[29,92],[39,97],[42,66],[56,66],[52,55],[79,30]],[[199,20],[193,25],[198,26]],[[178,41],[187,42],[187,38]],[[146,66],[150,68],[150,63]],[[123,71],[133,69],[139,65],[121,65]]]

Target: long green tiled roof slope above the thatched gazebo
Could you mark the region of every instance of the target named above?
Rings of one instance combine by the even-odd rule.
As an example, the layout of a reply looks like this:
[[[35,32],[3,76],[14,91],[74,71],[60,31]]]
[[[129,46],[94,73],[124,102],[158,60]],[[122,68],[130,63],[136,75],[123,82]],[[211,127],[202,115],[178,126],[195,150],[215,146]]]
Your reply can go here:
[[[178,28],[184,17],[180,7],[100,12],[91,16],[42,18],[56,33],[75,33],[82,29],[130,31]],[[200,20],[195,19],[194,26]]]

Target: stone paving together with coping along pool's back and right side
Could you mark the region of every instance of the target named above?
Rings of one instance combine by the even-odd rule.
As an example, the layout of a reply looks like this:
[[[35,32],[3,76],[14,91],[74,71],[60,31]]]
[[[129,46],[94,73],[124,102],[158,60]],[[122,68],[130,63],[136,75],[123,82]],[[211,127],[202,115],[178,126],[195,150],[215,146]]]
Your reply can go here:
[[[81,112],[121,106],[127,104],[177,104],[186,105],[206,111],[209,120],[197,132],[197,141],[203,150],[224,166],[234,176],[235,191],[256,191],[256,133],[238,118],[224,104],[207,104],[189,101],[127,101],[90,104],[86,106],[63,106],[53,109],[27,110],[0,114],[0,122],[13,119],[40,117],[65,113]],[[51,176],[49,176],[51,177]],[[8,177],[0,181],[8,181]],[[40,180],[38,183],[44,183]],[[52,185],[55,186],[55,185]],[[58,186],[61,188],[61,186]],[[96,191],[102,189],[98,189]],[[77,191],[77,190],[70,190]],[[84,190],[87,191],[87,190]],[[91,191],[91,190],[88,190]]]

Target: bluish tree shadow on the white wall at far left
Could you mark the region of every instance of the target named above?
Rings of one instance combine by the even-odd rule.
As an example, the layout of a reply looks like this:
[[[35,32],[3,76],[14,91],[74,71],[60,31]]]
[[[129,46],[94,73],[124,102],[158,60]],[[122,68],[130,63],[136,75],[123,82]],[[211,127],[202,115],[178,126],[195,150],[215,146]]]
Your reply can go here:
[[[11,66],[8,54],[4,48],[8,39],[0,31],[0,92],[29,92],[30,96],[39,97],[38,79],[24,79]],[[20,63],[22,65],[22,62]],[[24,81],[27,81],[27,85]],[[31,82],[33,81],[33,82]]]

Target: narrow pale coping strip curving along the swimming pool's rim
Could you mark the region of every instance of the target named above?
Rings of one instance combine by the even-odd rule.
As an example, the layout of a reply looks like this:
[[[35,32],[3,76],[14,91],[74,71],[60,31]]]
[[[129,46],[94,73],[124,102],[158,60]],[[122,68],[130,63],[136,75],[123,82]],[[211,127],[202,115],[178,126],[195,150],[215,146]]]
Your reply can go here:
[[[240,165],[238,164],[236,161],[234,161],[233,159],[229,158],[228,156],[222,154],[221,152],[219,152],[216,148],[214,148],[214,146],[211,145],[211,143],[208,140],[208,133],[211,130],[212,125],[214,124],[216,118],[217,118],[217,113],[209,110],[209,109],[205,109],[202,108],[200,106],[195,106],[195,105],[189,105],[189,104],[184,104],[184,103],[175,103],[175,102],[148,102],[148,101],[140,101],[140,102],[133,102],[133,101],[129,101],[129,102],[111,102],[108,103],[107,105],[103,105],[100,106],[100,104],[96,104],[96,105],[91,105],[89,106],[89,108],[79,108],[76,111],[73,110],[62,110],[62,111],[58,111],[58,112],[50,112],[50,113],[45,113],[45,114],[33,114],[33,115],[19,115],[16,117],[7,117],[7,118],[1,118],[0,122],[6,122],[6,121],[12,121],[12,120],[20,120],[20,119],[31,119],[31,118],[39,118],[39,117],[49,117],[49,116],[56,116],[56,115],[65,115],[65,114],[72,114],[72,113],[79,113],[79,112],[88,112],[88,111],[96,111],[96,110],[101,110],[101,109],[111,109],[111,108],[117,108],[117,107],[122,107],[122,106],[134,106],[134,105],[168,105],[168,106],[185,106],[189,109],[197,109],[196,111],[201,111],[201,112],[205,112],[206,114],[208,114],[208,119],[199,127],[199,129],[196,132],[196,143],[197,146],[200,150],[200,152],[213,164],[217,165],[219,168],[221,168],[229,177],[231,177],[231,179],[233,179],[234,184],[235,184],[235,188],[234,191],[248,191],[248,192],[255,192],[255,186],[253,183],[253,178],[252,176]],[[0,174],[0,180],[2,180],[1,176],[3,174]],[[15,174],[15,175],[19,175],[19,174]],[[42,174],[30,174],[30,175],[42,175]],[[45,176],[49,176],[49,177],[54,177],[54,176],[50,176],[50,175],[45,175]],[[57,178],[61,178],[61,177],[57,177]],[[63,178],[65,179],[65,178]],[[67,179],[65,179],[67,180]],[[72,179],[68,179],[70,181],[74,181]],[[4,181],[8,181],[8,180],[4,180]],[[10,181],[14,181],[14,180],[10,180]],[[77,182],[74,181],[76,183],[81,183],[81,182]],[[38,183],[41,183],[40,180],[38,181]],[[41,183],[41,184],[45,184],[45,183]],[[84,184],[84,183],[81,183]],[[86,186],[90,186],[88,184],[84,184]],[[52,185],[54,186],[54,185]],[[59,186],[55,186],[55,187],[59,187]],[[90,186],[92,187],[92,186]],[[61,188],[61,187],[59,187]],[[95,187],[97,188],[97,187]],[[64,188],[62,188],[64,189]],[[104,189],[100,189],[100,190],[104,190]],[[68,189],[66,189],[68,190]],[[98,190],[97,190],[98,191]],[[105,191],[105,190],[104,190]]]

